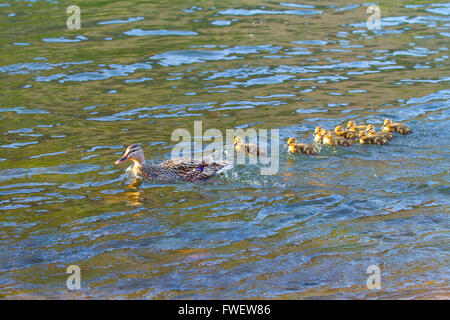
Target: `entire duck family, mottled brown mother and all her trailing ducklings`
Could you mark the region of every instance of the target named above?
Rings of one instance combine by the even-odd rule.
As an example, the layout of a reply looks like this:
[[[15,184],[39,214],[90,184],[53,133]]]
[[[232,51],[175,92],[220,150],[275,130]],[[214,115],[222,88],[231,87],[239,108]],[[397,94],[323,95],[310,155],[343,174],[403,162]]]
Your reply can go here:
[[[337,126],[334,132],[317,127],[314,131],[314,142],[331,146],[350,146],[352,143],[386,145],[394,138],[394,132],[399,134],[409,134],[411,129],[401,123],[392,123],[386,119],[381,132],[377,133],[371,124],[357,125],[355,121],[349,121],[347,129]],[[319,150],[316,145],[298,143],[296,138],[289,138],[286,146],[291,153],[302,153],[314,155]],[[242,137],[234,140],[234,149],[257,156],[266,156],[257,145],[244,143]],[[129,168],[132,175],[144,177],[150,180],[184,180],[197,182],[209,179],[210,177],[233,167],[228,161],[218,161],[214,159],[196,160],[188,158],[176,158],[153,164],[145,160],[144,151],[141,144],[128,146],[125,153],[116,161],[116,164],[132,161],[133,166]]]

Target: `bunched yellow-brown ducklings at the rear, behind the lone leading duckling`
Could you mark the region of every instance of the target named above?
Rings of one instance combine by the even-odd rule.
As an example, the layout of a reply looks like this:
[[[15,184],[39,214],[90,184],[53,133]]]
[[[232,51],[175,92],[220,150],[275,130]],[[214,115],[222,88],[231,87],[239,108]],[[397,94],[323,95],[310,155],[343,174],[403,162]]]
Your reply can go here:
[[[337,126],[334,131],[318,126],[314,130],[313,139],[316,144],[330,146],[348,147],[358,142],[360,144],[387,145],[395,137],[394,133],[406,135],[411,133],[411,129],[405,124],[392,123],[391,119],[386,119],[381,127],[381,131],[376,132],[373,124],[357,125],[355,121],[349,121],[345,130],[341,125]],[[298,143],[296,138],[289,138],[286,146],[290,153],[309,155],[319,153],[316,145]]]

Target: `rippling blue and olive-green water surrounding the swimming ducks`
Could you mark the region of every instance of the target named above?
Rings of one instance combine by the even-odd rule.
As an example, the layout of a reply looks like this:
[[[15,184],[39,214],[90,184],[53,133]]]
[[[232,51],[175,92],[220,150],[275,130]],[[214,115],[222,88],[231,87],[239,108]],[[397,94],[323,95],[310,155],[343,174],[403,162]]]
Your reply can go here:
[[[0,1],[0,297],[433,298],[449,292],[450,5]],[[259,175],[128,187],[124,148],[173,130],[383,119],[388,146]],[[68,291],[66,268],[81,268]],[[381,269],[368,289],[367,267]]]

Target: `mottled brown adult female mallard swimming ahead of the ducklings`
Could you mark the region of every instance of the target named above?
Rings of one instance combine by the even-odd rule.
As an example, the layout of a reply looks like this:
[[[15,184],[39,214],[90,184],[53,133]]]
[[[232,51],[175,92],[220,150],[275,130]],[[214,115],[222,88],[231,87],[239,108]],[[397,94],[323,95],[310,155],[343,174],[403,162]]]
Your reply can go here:
[[[151,164],[145,161],[140,144],[128,146],[116,164],[127,160],[134,162],[133,173],[151,180],[185,180],[196,182],[206,180],[222,171],[231,169],[233,164],[227,161],[205,161],[188,158],[175,158]]]

